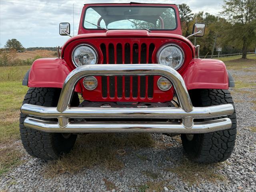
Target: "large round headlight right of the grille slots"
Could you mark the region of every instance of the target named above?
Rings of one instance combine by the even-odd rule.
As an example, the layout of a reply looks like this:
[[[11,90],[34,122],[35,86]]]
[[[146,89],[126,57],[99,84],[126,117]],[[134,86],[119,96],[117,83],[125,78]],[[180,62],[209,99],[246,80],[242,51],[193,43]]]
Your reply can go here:
[[[170,66],[177,70],[184,60],[182,49],[176,45],[168,45],[161,48],[158,52],[158,63]]]

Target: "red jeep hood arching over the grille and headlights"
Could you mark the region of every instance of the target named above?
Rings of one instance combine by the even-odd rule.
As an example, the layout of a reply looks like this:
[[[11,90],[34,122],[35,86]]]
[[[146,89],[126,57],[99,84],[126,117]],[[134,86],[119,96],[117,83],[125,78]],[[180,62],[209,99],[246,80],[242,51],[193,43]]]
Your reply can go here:
[[[79,39],[88,39],[88,38],[172,38],[182,40],[186,42],[194,53],[194,45],[190,40],[185,38],[184,36],[170,33],[150,33],[146,30],[108,30],[105,33],[87,33],[73,36],[62,46],[62,50],[65,50],[66,46],[75,40]],[[64,51],[62,51],[63,57]]]

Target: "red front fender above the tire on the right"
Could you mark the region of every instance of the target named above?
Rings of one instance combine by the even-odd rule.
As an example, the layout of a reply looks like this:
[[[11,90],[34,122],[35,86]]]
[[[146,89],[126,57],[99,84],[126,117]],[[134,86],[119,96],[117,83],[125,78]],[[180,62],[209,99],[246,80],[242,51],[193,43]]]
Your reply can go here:
[[[181,75],[188,90],[228,89],[228,72],[220,60],[192,59]]]

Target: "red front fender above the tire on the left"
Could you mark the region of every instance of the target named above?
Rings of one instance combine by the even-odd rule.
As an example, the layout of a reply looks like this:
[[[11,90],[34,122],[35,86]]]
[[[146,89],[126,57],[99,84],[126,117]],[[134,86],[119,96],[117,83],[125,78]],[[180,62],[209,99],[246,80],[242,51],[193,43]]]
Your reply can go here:
[[[56,87],[62,88],[68,74],[72,69],[61,58],[37,59],[32,64],[28,78],[28,87]],[[78,83],[76,92],[81,92]]]

